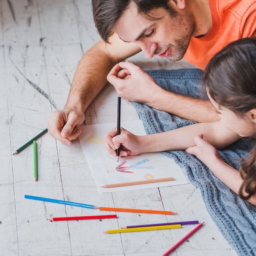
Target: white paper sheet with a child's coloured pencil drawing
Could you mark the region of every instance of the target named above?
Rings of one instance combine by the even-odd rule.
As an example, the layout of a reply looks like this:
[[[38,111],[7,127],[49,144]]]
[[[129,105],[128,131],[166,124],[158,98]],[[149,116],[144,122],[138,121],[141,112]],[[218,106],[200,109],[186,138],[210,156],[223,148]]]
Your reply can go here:
[[[161,153],[144,153],[138,156],[114,158],[106,150],[103,139],[108,130],[117,124],[95,124],[80,127],[79,140],[100,193],[173,186],[189,183],[182,168]],[[121,126],[135,135],[146,135],[142,122],[121,122]],[[171,141],[170,141],[171,143]],[[173,181],[102,188],[107,184],[174,177]]]

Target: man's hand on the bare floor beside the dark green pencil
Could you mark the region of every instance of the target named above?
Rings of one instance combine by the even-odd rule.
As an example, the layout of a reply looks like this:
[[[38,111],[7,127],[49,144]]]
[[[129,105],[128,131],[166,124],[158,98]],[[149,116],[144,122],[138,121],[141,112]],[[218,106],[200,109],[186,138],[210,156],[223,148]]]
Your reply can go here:
[[[47,128],[49,134],[67,145],[72,144],[72,140],[81,134],[78,128],[85,119],[84,113],[79,110],[64,108],[52,112],[47,119]]]

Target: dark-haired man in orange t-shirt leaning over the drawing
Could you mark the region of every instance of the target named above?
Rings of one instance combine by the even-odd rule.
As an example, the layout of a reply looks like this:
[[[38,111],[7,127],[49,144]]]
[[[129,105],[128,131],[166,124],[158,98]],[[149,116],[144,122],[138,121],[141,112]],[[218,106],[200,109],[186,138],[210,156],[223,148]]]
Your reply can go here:
[[[139,67],[119,62],[142,50],[204,69],[228,43],[256,36],[256,0],[92,0],[92,9],[103,40],[81,59],[65,108],[48,118],[50,135],[72,144],[107,76],[124,99],[198,122],[218,119],[208,101],[167,92]]]

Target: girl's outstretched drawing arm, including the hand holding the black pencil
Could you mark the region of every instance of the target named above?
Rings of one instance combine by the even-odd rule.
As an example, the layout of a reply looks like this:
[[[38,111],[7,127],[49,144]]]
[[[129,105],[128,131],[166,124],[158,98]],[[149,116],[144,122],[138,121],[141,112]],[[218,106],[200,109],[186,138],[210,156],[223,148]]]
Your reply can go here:
[[[144,136],[136,136],[124,128],[116,136],[117,128],[113,128],[105,135],[104,144],[108,152],[116,155],[120,144],[120,156],[138,155],[141,153],[158,152],[166,150],[183,150],[195,146],[194,137],[204,135],[204,140],[216,148],[225,148],[227,145],[240,139],[240,136],[224,126],[221,121],[199,123],[185,126],[168,132],[160,132]]]

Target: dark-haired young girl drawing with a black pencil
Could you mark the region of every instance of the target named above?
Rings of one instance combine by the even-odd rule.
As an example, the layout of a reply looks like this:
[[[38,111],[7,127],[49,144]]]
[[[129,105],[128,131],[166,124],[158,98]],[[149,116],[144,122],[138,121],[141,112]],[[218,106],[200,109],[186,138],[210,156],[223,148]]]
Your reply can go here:
[[[216,54],[207,65],[200,85],[220,121],[144,136],[136,136],[124,128],[116,136],[117,129],[113,128],[105,135],[106,149],[116,156],[121,145],[122,157],[185,149],[240,198],[256,205],[256,146],[243,160],[240,172],[226,164],[217,151],[241,137],[256,139],[256,38],[240,39]]]

